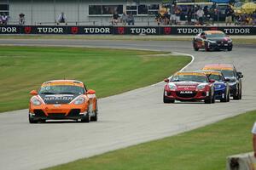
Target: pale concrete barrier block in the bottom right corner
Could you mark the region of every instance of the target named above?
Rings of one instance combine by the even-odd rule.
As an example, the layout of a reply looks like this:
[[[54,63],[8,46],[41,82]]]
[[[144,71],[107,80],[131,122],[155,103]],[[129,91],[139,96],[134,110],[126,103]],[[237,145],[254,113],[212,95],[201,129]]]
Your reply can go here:
[[[256,158],[253,156],[253,152],[229,156],[227,170],[256,170]]]

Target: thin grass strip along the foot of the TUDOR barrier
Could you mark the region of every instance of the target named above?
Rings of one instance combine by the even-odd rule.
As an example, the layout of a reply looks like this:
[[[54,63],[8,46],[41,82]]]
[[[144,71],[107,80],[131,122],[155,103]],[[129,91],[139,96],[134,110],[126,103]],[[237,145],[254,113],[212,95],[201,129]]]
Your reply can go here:
[[[0,35],[0,39],[82,39],[121,41],[192,41],[194,36],[83,36],[83,35]],[[251,36],[230,36],[234,43],[256,43]]]

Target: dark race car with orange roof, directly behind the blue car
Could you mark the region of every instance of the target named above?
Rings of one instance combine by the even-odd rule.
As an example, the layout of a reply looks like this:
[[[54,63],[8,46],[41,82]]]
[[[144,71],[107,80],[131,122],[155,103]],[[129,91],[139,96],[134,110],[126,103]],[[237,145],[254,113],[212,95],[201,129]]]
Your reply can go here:
[[[233,99],[241,99],[241,78],[243,75],[241,72],[236,71],[236,67],[234,65],[205,65],[202,70],[221,71],[224,75],[224,78],[229,79],[230,95],[233,96]]]

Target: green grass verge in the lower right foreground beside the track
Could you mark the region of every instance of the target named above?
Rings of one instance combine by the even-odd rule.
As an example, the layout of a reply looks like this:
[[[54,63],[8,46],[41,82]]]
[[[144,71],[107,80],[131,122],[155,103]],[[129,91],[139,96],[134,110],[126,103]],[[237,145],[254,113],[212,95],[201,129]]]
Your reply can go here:
[[[251,128],[256,111],[49,170],[220,170],[226,157],[252,151]]]

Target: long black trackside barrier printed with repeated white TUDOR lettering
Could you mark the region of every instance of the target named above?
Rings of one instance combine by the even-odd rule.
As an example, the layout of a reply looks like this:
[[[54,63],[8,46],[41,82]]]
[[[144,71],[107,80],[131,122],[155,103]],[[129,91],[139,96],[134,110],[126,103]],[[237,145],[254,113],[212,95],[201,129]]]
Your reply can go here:
[[[0,34],[195,35],[207,30],[256,35],[256,26],[0,26]]]

